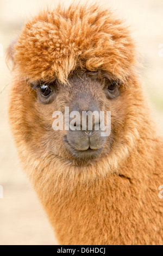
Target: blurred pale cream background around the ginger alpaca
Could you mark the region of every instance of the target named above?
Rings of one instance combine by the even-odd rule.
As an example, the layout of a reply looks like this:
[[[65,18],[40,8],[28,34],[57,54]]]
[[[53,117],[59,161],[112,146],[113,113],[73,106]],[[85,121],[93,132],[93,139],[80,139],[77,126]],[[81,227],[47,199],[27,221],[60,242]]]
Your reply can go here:
[[[11,75],[5,64],[5,51],[23,23],[47,4],[55,7],[57,2],[60,1],[0,0],[0,186],[4,190],[3,199],[0,198],[0,245],[57,245],[45,212],[18,163],[8,125]],[[65,5],[70,2],[62,0]],[[130,26],[143,57],[143,82],[152,101],[159,133],[163,135],[163,1],[99,2],[115,10]]]

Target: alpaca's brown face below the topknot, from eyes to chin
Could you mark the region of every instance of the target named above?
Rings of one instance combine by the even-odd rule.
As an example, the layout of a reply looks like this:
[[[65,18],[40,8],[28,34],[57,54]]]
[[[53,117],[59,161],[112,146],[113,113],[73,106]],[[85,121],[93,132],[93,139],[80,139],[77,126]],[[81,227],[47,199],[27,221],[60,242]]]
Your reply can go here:
[[[100,70],[75,71],[69,76],[67,84],[55,79],[51,82],[26,83],[25,88],[22,90],[22,96],[27,98],[27,95],[23,95],[27,90],[25,94],[28,94],[29,105],[34,106],[32,113],[27,111],[26,119],[30,119],[28,129],[33,135],[37,149],[72,159],[78,164],[110,154],[125,118],[123,97],[126,88],[121,81]],[[65,130],[65,107],[69,108],[70,113],[77,111],[81,114],[80,127],[77,127],[78,124],[75,122],[74,129],[69,126],[69,129]],[[53,122],[56,120],[53,115],[56,111],[60,111],[64,118],[63,129],[57,131],[53,129]],[[110,111],[110,135],[102,136],[100,126],[96,130],[97,121],[100,120],[94,116],[92,129],[88,129],[87,120],[84,129],[83,111]],[[69,115],[70,124],[72,120],[74,117],[71,118]],[[35,136],[36,130],[41,137]]]

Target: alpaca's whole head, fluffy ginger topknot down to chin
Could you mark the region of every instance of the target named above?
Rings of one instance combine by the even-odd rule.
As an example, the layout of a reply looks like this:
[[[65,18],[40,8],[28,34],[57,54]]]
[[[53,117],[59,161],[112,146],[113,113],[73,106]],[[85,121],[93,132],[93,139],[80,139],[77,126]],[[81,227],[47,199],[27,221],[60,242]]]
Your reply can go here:
[[[14,47],[14,62],[12,99],[19,105],[19,136],[30,152],[82,165],[128,143],[138,87],[134,44],[109,11],[71,5],[41,13],[26,23]],[[95,118],[92,129],[86,124],[82,130],[81,117],[80,130],[56,131],[53,113],[59,111],[65,118],[65,107],[79,113],[111,112],[110,136],[96,130]],[[13,125],[17,121],[13,118]]]

